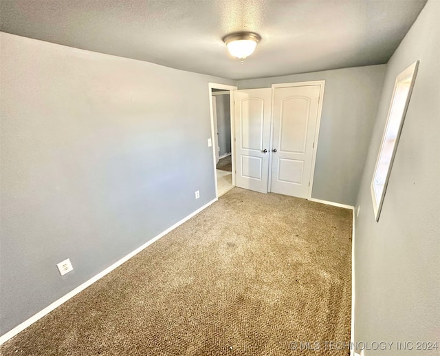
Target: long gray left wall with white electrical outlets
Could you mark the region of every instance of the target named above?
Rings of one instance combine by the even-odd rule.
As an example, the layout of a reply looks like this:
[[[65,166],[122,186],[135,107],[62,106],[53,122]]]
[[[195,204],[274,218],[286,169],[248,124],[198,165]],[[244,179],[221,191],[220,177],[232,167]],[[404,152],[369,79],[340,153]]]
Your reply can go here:
[[[215,198],[208,81],[235,82],[0,39],[1,335]]]

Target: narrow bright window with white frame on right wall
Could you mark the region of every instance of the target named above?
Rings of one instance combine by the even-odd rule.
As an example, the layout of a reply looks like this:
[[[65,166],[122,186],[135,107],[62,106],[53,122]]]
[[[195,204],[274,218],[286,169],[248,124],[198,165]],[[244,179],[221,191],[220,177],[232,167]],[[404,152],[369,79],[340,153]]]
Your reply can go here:
[[[393,166],[401,127],[404,124],[406,109],[410,101],[418,66],[419,61],[406,68],[404,72],[397,76],[394,85],[393,98],[391,98],[391,105],[388,110],[384,136],[380,145],[379,156],[377,157],[373,181],[371,182],[371,196],[373,197],[376,221],[379,221],[380,211],[384,203],[386,186],[390,178],[391,167]]]

